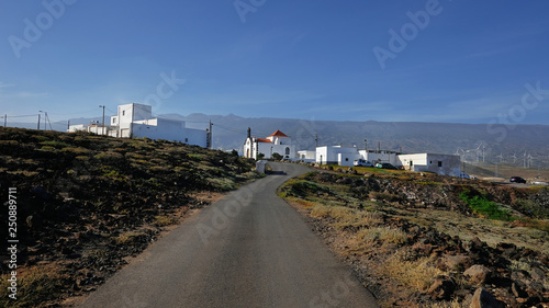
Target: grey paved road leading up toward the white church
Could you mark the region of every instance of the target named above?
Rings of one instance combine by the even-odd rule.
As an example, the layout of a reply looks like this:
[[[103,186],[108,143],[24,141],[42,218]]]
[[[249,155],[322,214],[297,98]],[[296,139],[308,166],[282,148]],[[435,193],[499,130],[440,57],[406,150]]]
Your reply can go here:
[[[273,164],[187,219],[124,267],[81,307],[379,307],[276,195],[306,168]]]

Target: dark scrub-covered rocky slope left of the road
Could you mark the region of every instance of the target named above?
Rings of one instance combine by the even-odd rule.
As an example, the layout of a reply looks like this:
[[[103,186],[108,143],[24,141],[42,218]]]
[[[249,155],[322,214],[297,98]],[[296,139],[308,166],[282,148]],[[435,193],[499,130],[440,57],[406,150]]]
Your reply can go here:
[[[165,140],[1,127],[0,221],[14,187],[19,243],[18,300],[9,301],[12,269],[1,254],[0,307],[52,307],[93,290],[163,228],[256,176],[251,167]]]

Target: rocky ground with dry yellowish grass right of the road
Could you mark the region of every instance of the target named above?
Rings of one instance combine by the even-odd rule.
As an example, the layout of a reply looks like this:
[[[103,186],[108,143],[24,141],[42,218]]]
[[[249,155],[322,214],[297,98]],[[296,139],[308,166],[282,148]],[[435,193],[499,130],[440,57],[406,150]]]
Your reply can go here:
[[[548,189],[354,168],[279,194],[382,307],[549,307]]]

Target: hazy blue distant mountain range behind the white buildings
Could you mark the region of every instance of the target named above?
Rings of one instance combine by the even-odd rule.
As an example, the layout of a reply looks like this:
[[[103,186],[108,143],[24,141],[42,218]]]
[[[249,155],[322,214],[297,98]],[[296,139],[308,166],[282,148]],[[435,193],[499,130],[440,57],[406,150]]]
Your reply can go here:
[[[549,167],[549,125],[486,125],[418,122],[335,122],[229,115],[166,114],[161,117],[186,121],[188,127],[206,128],[213,123],[213,146],[242,151],[248,127],[254,137],[267,137],[280,129],[292,137],[298,149],[313,150],[317,142],[355,145],[360,149],[459,153],[467,161],[530,164]],[[100,118],[72,118],[70,124],[90,124]],[[19,126],[18,126],[19,125]],[[36,128],[36,124],[9,126]],[[53,129],[65,130],[67,122],[52,123]],[[49,125],[47,126],[49,128]]]

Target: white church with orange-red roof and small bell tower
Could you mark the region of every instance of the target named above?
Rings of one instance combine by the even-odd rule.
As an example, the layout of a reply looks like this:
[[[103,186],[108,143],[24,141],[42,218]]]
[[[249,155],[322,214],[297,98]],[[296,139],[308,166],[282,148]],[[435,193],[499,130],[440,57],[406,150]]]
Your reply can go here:
[[[280,130],[267,138],[257,138],[251,137],[251,130],[248,128],[248,137],[244,142],[244,157],[257,159],[259,153],[262,153],[265,159],[272,158],[273,153],[292,159],[295,157],[295,146],[292,145],[292,138]]]

